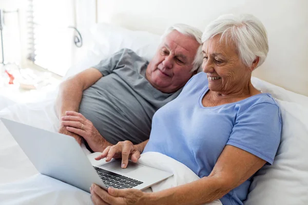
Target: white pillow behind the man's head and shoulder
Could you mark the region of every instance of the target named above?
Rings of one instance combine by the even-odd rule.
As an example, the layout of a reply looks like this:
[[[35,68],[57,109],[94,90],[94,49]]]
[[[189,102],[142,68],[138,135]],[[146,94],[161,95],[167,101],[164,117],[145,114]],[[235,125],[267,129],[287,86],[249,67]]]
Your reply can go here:
[[[128,48],[150,61],[159,44],[160,35],[146,31],[132,31],[111,24],[100,23],[91,29],[92,45],[86,55],[67,71],[64,79],[88,69],[122,48]]]

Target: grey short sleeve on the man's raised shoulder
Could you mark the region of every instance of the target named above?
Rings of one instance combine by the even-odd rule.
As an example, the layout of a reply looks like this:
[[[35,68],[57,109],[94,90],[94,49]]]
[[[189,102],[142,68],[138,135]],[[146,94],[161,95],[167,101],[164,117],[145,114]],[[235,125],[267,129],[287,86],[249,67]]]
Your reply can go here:
[[[118,64],[125,54],[125,49],[121,49],[110,57],[100,61],[100,63],[92,68],[98,69],[103,76],[109,75],[113,70],[118,69]]]

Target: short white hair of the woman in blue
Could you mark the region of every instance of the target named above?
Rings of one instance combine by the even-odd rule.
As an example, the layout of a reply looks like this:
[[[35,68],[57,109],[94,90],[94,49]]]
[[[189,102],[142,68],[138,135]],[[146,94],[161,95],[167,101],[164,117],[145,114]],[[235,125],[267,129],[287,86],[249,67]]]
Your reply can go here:
[[[221,35],[220,40],[232,40],[239,56],[247,67],[251,67],[256,57],[260,66],[268,53],[266,30],[258,18],[250,14],[239,16],[226,14],[211,22],[202,35],[202,42]]]

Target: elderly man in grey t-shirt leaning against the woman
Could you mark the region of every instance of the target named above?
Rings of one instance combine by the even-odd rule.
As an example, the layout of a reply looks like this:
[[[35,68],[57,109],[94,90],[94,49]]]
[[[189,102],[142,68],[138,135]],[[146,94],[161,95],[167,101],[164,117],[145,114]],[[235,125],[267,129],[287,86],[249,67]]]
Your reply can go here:
[[[148,63],[122,49],[97,66],[64,81],[57,97],[60,133],[84,138],[89,150],[149,138],[153,114],[175,99],[202,63],[202,32],[177,24],[168,28]]]

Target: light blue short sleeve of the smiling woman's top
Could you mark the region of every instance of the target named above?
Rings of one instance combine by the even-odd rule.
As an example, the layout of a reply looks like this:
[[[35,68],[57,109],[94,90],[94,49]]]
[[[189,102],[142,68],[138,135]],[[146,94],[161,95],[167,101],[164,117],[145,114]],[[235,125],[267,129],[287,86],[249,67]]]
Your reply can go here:
[[[226,145],[245,150],[272,165],[280,144],[281,128],[279,107],[260,103],[237,116]]]

